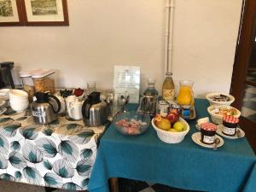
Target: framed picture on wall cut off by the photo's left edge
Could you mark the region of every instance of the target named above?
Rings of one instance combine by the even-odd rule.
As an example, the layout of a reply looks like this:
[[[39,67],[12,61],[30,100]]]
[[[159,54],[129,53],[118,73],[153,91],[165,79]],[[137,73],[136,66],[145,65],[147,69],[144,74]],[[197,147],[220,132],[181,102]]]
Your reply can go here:
[[[0,0],[0,26],[23,26],[20,0]]]

